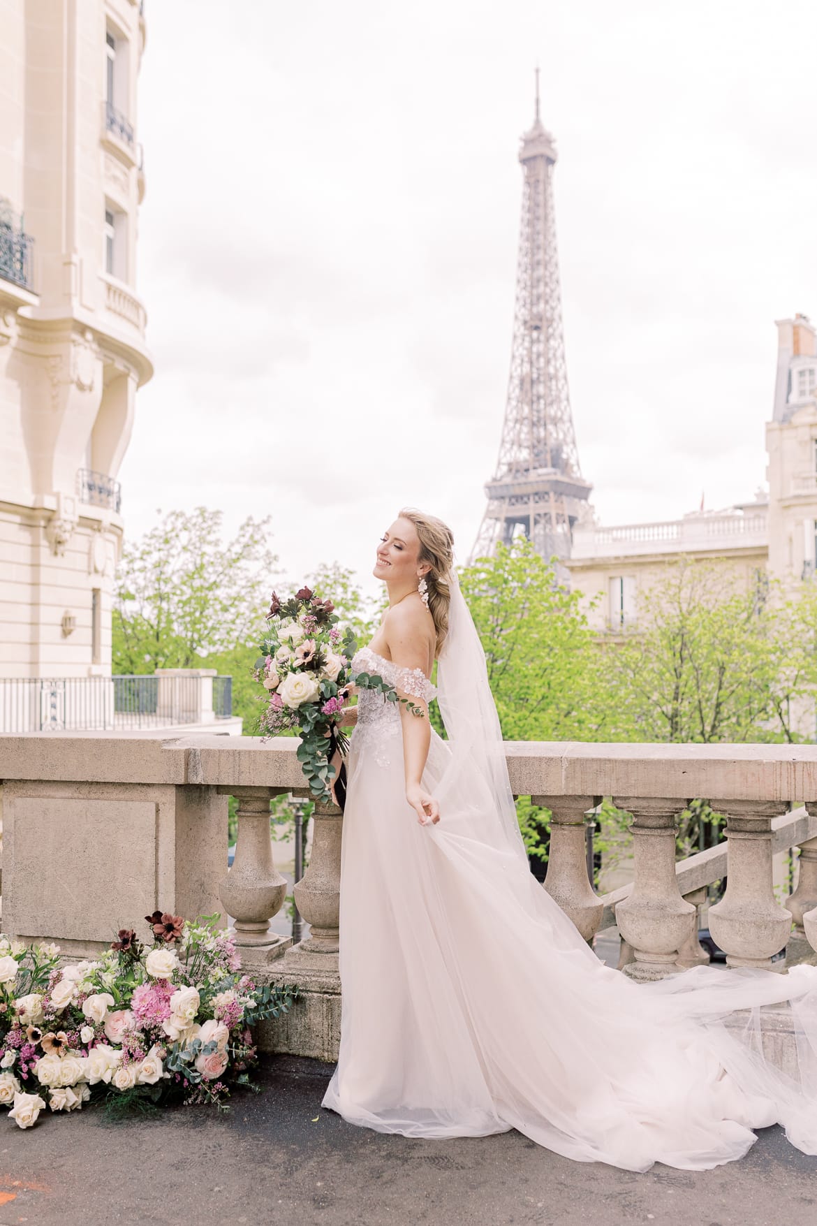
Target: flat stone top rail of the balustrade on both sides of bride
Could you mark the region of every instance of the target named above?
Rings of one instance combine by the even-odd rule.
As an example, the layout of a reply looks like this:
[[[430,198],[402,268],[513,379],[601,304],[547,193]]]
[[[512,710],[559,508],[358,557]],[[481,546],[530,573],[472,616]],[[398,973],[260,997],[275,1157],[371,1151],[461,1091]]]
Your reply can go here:
[[[303,788],[299,742],[277,737],[0,736],[0,780]],[[817,745],[510,741],[518,796],[817,801]]]

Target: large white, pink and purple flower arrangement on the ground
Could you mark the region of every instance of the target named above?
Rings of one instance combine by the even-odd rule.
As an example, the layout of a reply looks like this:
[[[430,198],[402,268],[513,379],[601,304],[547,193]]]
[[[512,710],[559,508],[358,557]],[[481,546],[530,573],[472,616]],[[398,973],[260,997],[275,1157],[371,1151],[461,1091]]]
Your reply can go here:
[[[119,1113],[173,1100],[227,1110],[230,1086],[255,1089],[251,1027],[285,1013],[296,987],[257,987],[241,972],[219,916],[146,916],[96,961],[60,967],[56,945],[0,935],[0,1105],[20,1128],[47,1106],[104,1097]]]

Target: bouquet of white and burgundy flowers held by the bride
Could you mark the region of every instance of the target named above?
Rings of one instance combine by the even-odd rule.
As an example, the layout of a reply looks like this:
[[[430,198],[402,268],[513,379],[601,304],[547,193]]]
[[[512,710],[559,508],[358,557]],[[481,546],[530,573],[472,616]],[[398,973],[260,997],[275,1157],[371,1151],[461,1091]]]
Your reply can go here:
[[[332,601],[321,601],[311,587],[290,600],[272,593],[268,634],[260,645],[254,676],[269,691],[258,731],[265,737],[298,732],[298,760],[316,799],[331,801],[331,765],[336,750],[345,754],[349,737],[341,717],[353,688],[378,690],[390,702],[404,702],[413,715],[424,712],[399,698],[376,673],[354,673],[358,650],[353,630],[342,626]],[[342,801],[342,796],[339,796]]]

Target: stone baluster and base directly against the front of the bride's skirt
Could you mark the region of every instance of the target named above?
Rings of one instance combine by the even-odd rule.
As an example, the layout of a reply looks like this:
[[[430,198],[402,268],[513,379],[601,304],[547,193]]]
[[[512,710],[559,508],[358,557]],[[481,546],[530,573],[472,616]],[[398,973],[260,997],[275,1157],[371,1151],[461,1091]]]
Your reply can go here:
[[[316,804],[309,868],[295,885],[295,902],[310,934],[287,950],[271,980],[298,984],[289,1013],[263,1022],[258,1046],[267,1052],[337,1060],[341,1045],[341,843],[343,814],[336,804]]]

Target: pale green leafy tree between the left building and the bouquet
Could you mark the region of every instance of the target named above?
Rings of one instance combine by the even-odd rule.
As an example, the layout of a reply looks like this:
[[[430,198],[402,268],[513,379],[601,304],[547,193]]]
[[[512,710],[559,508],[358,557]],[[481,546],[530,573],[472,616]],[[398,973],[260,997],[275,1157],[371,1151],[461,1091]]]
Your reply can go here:
[[[194,668],[252,642],[278,573],[269,520],[247,519],[227,544],[222,512],[170,511],[119,568],[114,671]]]

